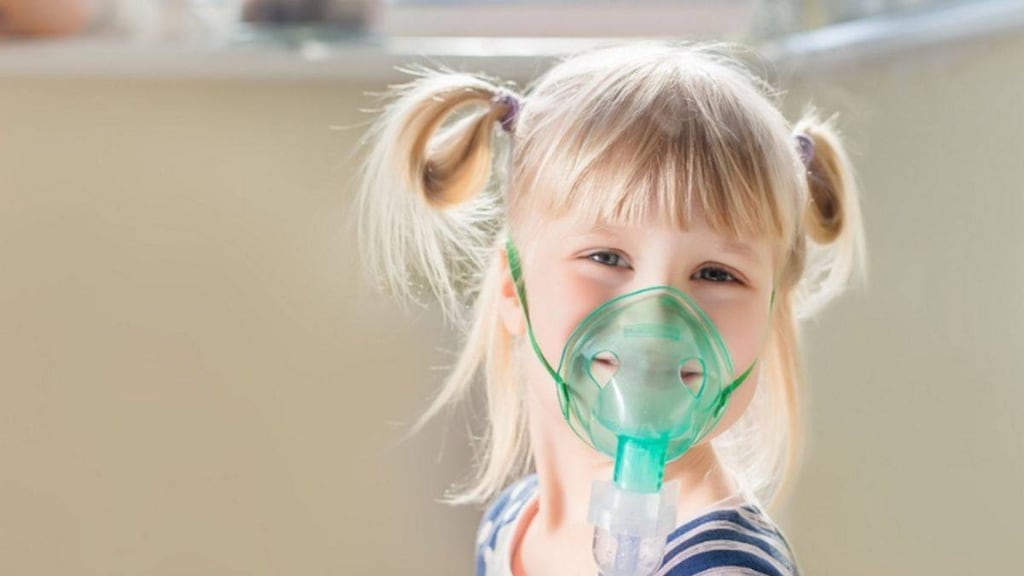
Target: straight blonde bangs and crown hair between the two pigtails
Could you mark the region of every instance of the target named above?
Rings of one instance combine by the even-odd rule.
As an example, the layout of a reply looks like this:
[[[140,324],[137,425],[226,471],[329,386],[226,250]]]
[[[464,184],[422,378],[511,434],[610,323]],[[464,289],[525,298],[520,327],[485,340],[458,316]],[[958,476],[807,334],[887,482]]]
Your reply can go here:
[[[524,122],[515,171],[528,176],[512,191],[511,215],[685,230],[696,211],[732,238],[788,245],[801,183],[778,130],[751,110],[748,85],[681,66],[669,59],[611,70],[580,90],[557,122]],[[542,94],[526,108],[550,117],[539,110],[548,99],[564,106],[561,96]]]

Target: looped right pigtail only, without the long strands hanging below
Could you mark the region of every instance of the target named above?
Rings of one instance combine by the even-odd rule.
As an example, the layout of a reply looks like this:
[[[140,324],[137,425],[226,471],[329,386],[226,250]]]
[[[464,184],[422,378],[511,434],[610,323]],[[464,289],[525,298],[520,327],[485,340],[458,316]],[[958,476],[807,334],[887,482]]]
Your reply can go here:
[[[821,121],[813,107],[795,126],[813,142],[806,166],[808,198],[803,213],[806,237],[796,291],[797,318],[813,316],[852,280],[866,280],[866,249],[859,191],[853,167],[836,128],[836,115]]]

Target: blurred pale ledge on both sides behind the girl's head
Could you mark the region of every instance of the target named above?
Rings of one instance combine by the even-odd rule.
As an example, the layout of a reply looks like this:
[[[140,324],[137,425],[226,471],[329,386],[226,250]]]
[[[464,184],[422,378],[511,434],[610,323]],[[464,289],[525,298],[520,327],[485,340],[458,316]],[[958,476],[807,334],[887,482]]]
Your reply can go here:
[[[1024,2],[993,0],[909,16],[865,18],[761,44],[764,57],[799,75],[886,60],[1024,28]],[[408,80],[398,67],[449,66],[528,80],[562,55],[626,38],[249,37],[227,44],[140,42],[111,36],[0,41],[0,77],[156,77]]]

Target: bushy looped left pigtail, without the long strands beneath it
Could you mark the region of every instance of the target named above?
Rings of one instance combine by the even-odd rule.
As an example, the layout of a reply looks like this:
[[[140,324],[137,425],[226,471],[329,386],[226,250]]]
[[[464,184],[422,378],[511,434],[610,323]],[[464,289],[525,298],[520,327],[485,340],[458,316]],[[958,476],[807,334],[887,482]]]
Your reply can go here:
[[[360,140],[359,252],[378,288],[399,302],[430,292],[460,324],[503,224],[488,188],[493,132],[508,106],[478,76],[427,69],[390,86],[392,101]],[[494,104],[498,102],[498,105]]]

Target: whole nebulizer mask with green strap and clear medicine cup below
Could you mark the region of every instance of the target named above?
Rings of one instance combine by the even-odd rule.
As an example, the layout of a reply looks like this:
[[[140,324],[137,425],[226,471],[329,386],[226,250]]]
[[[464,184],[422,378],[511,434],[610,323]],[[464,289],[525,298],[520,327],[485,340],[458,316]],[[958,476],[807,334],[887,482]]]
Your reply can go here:
[[[675,528],[680,489],[678,481],[663,486],[665,466],[715,428],[756,361],[733,378],[728,348],[696,302],[672,286],[652,286],[591,312],[553,369],[534,337],[511,238],[506,249],[530,343],[557,384],[562,415],[614,458],[612,481],[592,486],[588,515],[601,574],[652,574]]]

